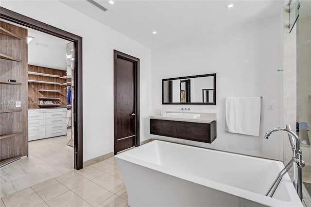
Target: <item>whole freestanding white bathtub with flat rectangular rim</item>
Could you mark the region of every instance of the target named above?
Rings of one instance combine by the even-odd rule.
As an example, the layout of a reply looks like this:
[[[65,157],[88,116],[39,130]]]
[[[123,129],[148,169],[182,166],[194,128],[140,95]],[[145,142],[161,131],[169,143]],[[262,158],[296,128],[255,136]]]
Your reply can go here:
[[[154,140],[115,155],[130,207],[302,207],[283,163]]]

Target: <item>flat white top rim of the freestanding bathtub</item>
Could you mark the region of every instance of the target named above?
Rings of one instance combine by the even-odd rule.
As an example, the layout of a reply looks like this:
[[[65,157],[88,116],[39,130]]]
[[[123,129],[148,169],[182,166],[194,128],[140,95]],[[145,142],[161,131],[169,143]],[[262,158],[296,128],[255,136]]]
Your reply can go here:
[[[165,142],[165,141],[153,140],[152,142],[149,142],[145,145],[149,145],[149,144],[152,144],[155,142]],[[175,144],[172,142],[166,142],[166,143]],[[144,145],[139,146],[139,147],[143,147],[143,146]],[[183,145],[183,146],[193,147],[193,146],[188,146],[188,145]],[[194,148],[198,148],[198,147],[194,147]],[[134,148],[132,150],[135,150],[135,149],[137,149],[137,148]],[[199,148],[199,149],[210,151],[209,149],[205,149],[205,148]],[[130,152],[132,150],[129,150],[129,151],[126,151],[124,153],[115,155],[115,157],[117,158],[117,161],[118,161],[118,159],[122,159],[122,160],[134,163],[136,165],[139,165],[139,166],[142,166],[145,168],[149,168],[149,169],[152,169],[152,170],[155,170],[158,172],[169,174],[171,176],[174,176],[174,177],[177,177],[180,179],[184,179],[184,180],[187,180],[189,182],[196,183],[198,185],[202,185],[202,186],[205,186],[205,187],[210,188],[210,189],[223,191],[225,193],[232,194],[232,195],[235,195],[237,197],[240,197],[240,198],[243,198],[246,200],[250,200],[250,201],[254,201],[254,202],[266,205],[266,206],[276,206],[276,207],[277,206],[282,206],[282,207],[294,207],[295,206],[295,207],[299,207],[299,206],[297,206],[298,203],[300,204],[301,207],[303,206],[298,195],[297,195],[297,193],[294,190],[293,183],[292,183],[290,177],[288,176],[288,174],[286,174],[283,177],[283,182],[284,182],[284,184],[288,190],[290,201],[283,201],[283,200],[279,200],[276,198],[270,198],[270,197],[267,197],[265,195],[261,195],[259,193],[255,193],[255,192],[252,192],[249,190],[243,190],[243,189],[240,189],[237,187],[229,186],[229,185],[219,183],[219,182],[216,182],[213,180],[202,178],[202,177],[199,177],[196,175],[192,175],[192,174],[188,174],[188,173],[181,173],[181,172],[175,171],[173,169],[170,169],[170,168],[167,168],[164,166],[156,165],[156,164],[153,164],[153,163],[150,163],[147,161],[143,161],[143,160],[139,160],[137,158],[126,155],[127,152]],[[226,153],[226,152],[222,152],[222,151],[217,151],[217,153],[218,152],[222,153],[222,154],[232,154],[232,153]],[[257,158],[257,157],[247,156],[247,155],[238,155],[238,154],[232,154],[232,155],[247,157],[247,158],[251,158],[251,159],[264,159],[264,158]],[[280,171],[284,167],[284,165],[279,161],[269,160],[269,159],[264,159],[264,160],[268,161],[268,162],[277,163],[278,167],[280,168]],[[126,183],[125,183],[125,185],[126,185]]]

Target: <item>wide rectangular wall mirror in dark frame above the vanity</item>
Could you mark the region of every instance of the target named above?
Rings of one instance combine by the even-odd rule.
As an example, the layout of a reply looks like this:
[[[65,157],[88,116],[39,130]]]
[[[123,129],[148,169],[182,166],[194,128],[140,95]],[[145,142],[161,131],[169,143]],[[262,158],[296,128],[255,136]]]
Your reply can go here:
[[[162,104],[216,105],[216,73],[162,79]]]

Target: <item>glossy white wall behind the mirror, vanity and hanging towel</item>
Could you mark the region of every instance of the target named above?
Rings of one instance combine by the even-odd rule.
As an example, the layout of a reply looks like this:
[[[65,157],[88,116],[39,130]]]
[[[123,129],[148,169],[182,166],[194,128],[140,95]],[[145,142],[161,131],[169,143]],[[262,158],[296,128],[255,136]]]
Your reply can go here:
[[[264,140],[264,133],[282,126],[282,21],[269,17],[232,27],[213,39],[158,48],[152,51],[152,113],[190,107],[190,111],[217,113],[217,138],[212,144],[191,142],[247,155],[283,160],[282,133]],[[161,80],[201,74],[217,74],[217,105],[162,105]],[[259,137],[225,131],[225,98],[262,96]],[[268,110],[273,104],[274,110]],[[165,138],[182,142],[181,139]]]

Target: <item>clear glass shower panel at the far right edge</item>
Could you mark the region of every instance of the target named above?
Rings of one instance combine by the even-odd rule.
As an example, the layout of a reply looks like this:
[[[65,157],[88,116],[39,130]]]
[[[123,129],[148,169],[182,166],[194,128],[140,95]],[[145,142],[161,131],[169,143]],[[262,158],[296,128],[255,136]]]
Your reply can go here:
[[[311,206],[311,1],[300,0],[297,20],[297,134],[302,158],[303,194],[306,206]]]

